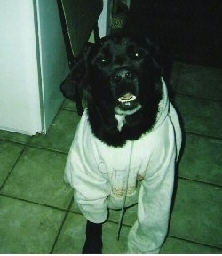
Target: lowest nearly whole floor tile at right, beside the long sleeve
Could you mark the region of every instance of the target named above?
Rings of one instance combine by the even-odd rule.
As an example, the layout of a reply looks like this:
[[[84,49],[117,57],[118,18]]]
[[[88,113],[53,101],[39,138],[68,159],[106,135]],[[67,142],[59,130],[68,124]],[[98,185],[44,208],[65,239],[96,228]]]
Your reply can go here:
[[[222,248],[222,188],[179,180],[170,235]]]

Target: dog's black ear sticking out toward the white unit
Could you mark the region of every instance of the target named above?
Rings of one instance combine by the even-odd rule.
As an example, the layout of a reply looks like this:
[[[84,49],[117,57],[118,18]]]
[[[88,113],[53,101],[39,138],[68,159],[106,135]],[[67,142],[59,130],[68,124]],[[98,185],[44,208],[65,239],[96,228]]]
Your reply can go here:
[[[86,60],[91,45],[87,44],[81,55],[75,60],[66,79],[60,84],[60,90],[67,99],[76,101],[77,93],[82,97],[86,76]]]

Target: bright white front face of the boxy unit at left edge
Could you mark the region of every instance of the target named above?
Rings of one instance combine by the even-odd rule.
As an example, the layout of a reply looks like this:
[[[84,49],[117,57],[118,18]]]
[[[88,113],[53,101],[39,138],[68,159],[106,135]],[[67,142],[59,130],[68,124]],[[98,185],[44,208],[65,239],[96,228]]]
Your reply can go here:
[[[41,132],[33,1],[0,0],[0,24],[0,129]]]

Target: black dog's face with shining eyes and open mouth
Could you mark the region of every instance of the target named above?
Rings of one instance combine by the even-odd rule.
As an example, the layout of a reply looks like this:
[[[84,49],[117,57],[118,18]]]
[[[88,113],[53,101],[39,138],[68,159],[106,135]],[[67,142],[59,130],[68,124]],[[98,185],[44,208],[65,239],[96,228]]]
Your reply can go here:
[[[159,94],[161,67],[146,38],[107,36],[87,57],[91,99],[99,108],[129,116]],[[156,95],[157,96],[157,95]]]

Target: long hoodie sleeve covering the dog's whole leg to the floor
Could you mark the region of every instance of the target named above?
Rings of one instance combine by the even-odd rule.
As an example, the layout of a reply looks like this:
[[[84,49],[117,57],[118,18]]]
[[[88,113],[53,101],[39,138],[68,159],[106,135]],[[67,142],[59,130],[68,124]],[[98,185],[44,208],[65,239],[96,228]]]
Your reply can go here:
[[[155,151],[139,191],[138,219],[128,239],[129,253],[158,253],[168,231],[171,196],[174,184],[176,141],[167,121],[156,137]],[[158,142],[159,141],[159,142]],[[164,146],[163,146],[164,145]]]

